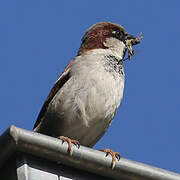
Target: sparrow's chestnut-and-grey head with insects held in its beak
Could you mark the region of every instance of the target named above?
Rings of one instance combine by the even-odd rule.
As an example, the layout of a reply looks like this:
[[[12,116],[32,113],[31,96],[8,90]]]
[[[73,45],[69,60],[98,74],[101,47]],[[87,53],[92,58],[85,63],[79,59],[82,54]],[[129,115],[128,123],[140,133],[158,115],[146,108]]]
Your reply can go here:
[[[126,50],[129,56],[134,51],[132,46],[140,43],[142,37],[136,38],[129,34],[124,27],[110,22],[101,22],[91,26],[82,38],[78,55],[94,49],[111,49],[125,56]]]

